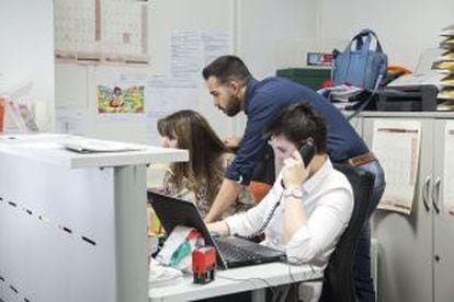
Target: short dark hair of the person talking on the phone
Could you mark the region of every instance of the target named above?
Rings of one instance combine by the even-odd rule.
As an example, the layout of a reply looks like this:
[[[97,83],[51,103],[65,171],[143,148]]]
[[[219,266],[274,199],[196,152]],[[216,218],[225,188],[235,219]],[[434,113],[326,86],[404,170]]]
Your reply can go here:
[[[306,103],[294,103],[277,115],[265,136],[279,135],[283,135],[297,148],[308,138],[311,138],[317,153],[327,152],[326,121]]]

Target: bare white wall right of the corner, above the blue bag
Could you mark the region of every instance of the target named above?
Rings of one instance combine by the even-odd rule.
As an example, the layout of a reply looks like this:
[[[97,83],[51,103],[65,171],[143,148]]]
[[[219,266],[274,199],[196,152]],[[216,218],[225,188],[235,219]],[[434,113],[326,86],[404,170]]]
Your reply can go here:
[[[390,65],[413,69],[424,49],[436,48],[440,30],[454,23],[452,0],[319,0],[321,38],[350,39],[374,30]]]

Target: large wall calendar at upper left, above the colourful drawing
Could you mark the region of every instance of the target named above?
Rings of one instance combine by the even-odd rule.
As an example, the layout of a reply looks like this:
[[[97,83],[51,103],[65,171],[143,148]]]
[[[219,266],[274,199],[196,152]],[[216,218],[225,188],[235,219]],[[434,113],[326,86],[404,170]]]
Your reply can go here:
[[[55,48],[61,61],[147,65],[148,5],[133,1],[56,0]]]

